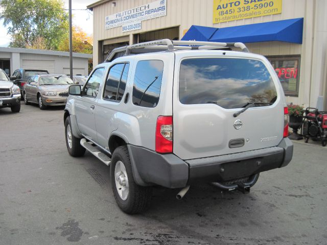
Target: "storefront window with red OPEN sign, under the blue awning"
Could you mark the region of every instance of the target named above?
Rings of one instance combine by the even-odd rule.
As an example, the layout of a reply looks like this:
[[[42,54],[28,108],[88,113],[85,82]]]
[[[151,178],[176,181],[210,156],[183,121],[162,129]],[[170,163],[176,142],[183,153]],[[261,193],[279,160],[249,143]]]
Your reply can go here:
[[[298,96],[300,56],[267,57],[282,83],[285,95]]]

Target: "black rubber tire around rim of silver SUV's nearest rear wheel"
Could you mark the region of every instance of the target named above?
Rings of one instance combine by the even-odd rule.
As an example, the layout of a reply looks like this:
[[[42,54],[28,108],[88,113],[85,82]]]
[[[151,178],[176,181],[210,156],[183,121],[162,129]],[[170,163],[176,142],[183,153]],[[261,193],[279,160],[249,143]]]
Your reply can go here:
[[[119,187],[116,186],[114,172],[115,166],[118,162],[122,162],[126,169],[128,181],[128,195],[126,200],[121,198],[120,194],[118,193]],[[128,214],[141,213],[150,206],[152,187],[139,186],[135,183],[132,173],[132,165],[126,145],[119,146],[112,154],[110,163],[110,182],[116,203],[123,212]]]

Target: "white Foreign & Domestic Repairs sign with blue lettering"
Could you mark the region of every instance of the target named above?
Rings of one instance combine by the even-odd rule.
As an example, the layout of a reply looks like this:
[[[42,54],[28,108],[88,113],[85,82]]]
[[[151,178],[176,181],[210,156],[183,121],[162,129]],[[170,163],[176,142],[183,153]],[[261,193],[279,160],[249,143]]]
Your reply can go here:
[[[142,20],[165,16],[167,14],[166,10],[167,0],[159,0],[150,4],[141,5],[133,9],[106,16],[105,28],[107,30],[115,27],[127,26],[134,22],[140,23]]]

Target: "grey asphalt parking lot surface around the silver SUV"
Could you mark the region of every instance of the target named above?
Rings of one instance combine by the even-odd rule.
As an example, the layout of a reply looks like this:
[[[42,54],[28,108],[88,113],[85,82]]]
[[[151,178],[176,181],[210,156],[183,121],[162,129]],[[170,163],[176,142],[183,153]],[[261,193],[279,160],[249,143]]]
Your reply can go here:
[[[327,147],[294,142],[292,162],[249,194],[155,188],[151,208],[116,206],[108,167],[68,155],[63,107],[0,109],[0,244],[327,244]]]

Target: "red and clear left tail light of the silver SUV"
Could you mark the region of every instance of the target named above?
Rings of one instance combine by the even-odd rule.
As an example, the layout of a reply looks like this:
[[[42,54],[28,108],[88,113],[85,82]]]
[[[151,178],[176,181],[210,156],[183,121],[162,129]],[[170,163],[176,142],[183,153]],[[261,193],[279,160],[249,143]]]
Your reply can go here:
[[[173,152],[173,117],[158,116],[155,130],[155,151],[158,153]]]

